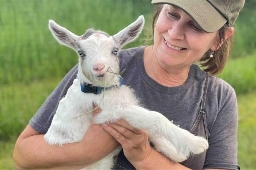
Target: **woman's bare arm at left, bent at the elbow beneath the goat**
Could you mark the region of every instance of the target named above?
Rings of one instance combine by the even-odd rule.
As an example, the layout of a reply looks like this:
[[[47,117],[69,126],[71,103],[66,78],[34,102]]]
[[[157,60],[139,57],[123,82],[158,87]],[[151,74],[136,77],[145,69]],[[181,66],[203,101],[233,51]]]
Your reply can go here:
[[[43,136],[29,125],[20,134],[13,152],[18,169],[81,168],[100,160],[119,145],[96,124],[90,126],[82,141],[68,143],[62,147],[46,143]]]

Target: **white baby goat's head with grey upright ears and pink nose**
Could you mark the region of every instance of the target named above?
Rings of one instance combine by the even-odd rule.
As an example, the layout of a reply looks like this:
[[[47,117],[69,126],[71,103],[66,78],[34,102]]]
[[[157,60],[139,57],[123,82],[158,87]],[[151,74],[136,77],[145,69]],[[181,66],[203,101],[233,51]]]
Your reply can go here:
[[[77,78],[95,86],[110,87],[119,84],[118,54],[121,48],[135,40],[144,26],[144,17],[140,16],[117,34],[109,36],[102,31],[89,29],[77,36],[66,28],[49,20],[49,29],[54,38],[62,45],[72,48],[79,56]],[[106,81],[106,82],[105,82]]]

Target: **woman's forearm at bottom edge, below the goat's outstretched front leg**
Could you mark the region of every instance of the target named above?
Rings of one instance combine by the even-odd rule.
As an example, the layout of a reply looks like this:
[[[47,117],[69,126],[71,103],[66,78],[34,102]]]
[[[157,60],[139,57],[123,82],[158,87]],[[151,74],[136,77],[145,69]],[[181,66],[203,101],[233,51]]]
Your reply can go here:
[[[151,154],[144,160],[131,162],[136,169],[189,169],[180,163],[174,163],[152,148]]]

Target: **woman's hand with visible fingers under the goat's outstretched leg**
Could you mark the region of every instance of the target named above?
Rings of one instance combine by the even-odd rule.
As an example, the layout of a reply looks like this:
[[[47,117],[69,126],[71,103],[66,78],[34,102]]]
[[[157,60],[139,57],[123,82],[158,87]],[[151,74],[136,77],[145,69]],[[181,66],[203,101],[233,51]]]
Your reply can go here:
[[[131,163],[142,161],[151,154],[146,131],[136,129],[122,119],[113,124],[103,124],[103,128],[122,145],[123,153]]]

